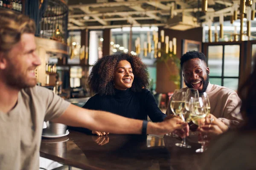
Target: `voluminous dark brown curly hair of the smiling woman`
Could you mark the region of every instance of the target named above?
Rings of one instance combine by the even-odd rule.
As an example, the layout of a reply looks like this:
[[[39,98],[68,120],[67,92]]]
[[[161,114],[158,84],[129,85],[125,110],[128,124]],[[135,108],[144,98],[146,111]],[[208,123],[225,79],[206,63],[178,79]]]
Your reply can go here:
[[[93,94],[114,95],[114,71],[121,60],[127,60],[131,64],[134,81],[131,91],[139,92],[146,88],[148,82],[148,69],[140,57],[131,54],[113,54],[99,59],[93,66],[88,77],[88,88]]]

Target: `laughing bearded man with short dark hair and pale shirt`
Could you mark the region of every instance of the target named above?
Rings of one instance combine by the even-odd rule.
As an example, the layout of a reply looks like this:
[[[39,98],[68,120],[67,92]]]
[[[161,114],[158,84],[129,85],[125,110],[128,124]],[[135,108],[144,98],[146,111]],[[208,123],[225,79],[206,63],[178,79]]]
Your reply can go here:
[[[195,88],[199,94],[207,93],[211,105],[210,113],[219,118],[227,126],[233,127],[241,122],[241,100],[237,93],[220,85],[212,85],[209,82],[210,69],[207,67],[207,59],[203,53],[189,51],[180,58],[180,68],[183,71],[184,82],[187,87]],[[171,114],[170,102],[166,114]]]

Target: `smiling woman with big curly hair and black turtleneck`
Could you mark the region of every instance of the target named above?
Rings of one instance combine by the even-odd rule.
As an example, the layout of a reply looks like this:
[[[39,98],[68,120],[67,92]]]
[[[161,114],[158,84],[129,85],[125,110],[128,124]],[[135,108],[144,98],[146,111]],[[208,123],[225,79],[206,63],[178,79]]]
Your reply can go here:
[[[102,57],[90,72],[88,86],[90,92],[96,95],[83,108],[109,111],[132,119],[147,120],[149,116],[153,122],[161,122],[166,117],[146,89],[148,71],[140,57],[131,54]],[[92,133],[99,136],[106,134]]]

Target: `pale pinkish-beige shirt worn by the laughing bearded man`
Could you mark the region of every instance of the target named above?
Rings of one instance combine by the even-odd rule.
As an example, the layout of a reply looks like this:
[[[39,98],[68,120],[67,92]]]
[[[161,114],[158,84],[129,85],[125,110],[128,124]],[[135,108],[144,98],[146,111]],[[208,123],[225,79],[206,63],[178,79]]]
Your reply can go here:
[[[181,90],[186,91],[187,89],[188,87],[182,88]],[[242,121],[240,113],[241,99],[235,91],[220,85],[212,85],[209,83],[206,93],[211,105],[211,114],[221,119],[230,127],[234,127]],[[172,113],[170,104],[171,100],[167,107],[167,115]]]

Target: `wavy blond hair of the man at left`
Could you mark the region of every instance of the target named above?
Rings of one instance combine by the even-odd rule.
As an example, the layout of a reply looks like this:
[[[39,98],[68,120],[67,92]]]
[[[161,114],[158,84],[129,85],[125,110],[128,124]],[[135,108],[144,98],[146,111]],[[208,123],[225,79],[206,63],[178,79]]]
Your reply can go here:
[[[23,14],[0,10],[0,52],[8,52],[23,33],[35,34],[35,23]]]

